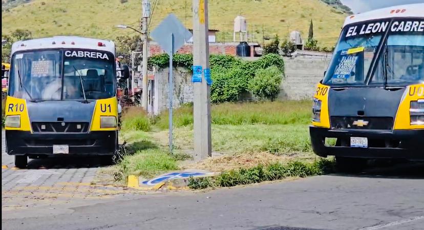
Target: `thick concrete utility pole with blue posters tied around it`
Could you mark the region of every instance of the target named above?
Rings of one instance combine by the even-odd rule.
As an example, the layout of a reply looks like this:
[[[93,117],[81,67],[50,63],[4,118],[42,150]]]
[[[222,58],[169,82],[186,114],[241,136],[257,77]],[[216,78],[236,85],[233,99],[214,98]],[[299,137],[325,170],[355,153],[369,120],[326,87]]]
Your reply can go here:
[[[202,67],[202,81],[194,82],[194,159],[211,156],[210,86],[207,0],[193,0],[193,65]]]

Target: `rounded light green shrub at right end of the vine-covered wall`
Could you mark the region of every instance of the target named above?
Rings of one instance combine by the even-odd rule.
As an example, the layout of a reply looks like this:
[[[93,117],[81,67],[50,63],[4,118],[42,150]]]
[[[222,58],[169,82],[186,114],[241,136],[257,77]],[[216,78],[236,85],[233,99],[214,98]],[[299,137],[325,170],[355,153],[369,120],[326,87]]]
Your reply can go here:
[[[277,67],[258,70],[249,82],[250,92],[261,98],[274,100],[280,92],[282,73]]]

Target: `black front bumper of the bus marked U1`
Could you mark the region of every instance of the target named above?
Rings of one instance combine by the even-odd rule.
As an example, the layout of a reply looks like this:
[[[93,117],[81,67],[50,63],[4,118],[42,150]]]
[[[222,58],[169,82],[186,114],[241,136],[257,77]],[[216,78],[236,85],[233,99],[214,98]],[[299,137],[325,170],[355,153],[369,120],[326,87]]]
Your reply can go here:
[[[6,130],[9,155],[53,155],[53,145],[68,145],[69,155],[113,155],[117,131],[90,133],[31,133]]]

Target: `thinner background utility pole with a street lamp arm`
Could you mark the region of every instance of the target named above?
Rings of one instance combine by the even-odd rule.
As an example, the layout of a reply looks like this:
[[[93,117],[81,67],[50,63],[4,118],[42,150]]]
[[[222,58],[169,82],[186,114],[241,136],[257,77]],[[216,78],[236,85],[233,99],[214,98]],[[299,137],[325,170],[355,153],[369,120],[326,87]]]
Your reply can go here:
[[[149,39],[147,34],[147,19],[150,17],[150,1],[143,0],[143,93],[141,106],[147,111],[147,59],[149,58]]]

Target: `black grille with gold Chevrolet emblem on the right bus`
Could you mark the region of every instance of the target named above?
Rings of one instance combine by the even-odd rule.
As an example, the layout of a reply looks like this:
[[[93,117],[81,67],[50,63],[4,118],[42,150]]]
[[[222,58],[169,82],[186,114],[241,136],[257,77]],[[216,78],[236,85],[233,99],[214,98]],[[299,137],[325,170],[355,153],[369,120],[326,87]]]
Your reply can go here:
[[[332,116],[332,129],[358,129],[358,130],[392,130],[392,117],[338,117]]]

